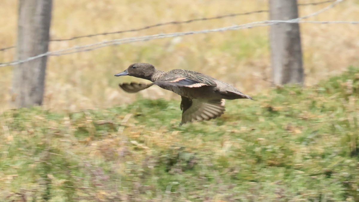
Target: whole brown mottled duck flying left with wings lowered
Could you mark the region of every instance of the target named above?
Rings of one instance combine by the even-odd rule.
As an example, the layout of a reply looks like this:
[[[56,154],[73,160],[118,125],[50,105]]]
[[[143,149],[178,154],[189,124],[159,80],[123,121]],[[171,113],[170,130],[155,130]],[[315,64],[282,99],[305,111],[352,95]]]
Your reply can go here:
[[[119,86],[126,92],[138,92],[153,84],[173,91],[181,96],[181,124],[195,120],[214,119],[224,113],[224,99],[252,99],[228,83],[208,75],[185,69],[168,72],[156,70],[148,63],[131,64],[125,71],[115,76],[130,75],[150,80],[152,83],[122,83]]]

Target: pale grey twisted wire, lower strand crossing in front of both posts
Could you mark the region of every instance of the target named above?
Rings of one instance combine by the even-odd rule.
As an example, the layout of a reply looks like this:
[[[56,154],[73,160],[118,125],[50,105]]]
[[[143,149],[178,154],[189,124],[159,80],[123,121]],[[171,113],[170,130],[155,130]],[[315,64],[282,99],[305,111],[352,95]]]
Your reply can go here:
[[[168,34],[156,34],[156,35],[146,35],[146,36],[140,36],[140,37],[130,37],[130,38],[119,38],[119,39],[115,39],[115,40],[106,40],[106,41],[97,42],[97,43],[91,43],[91,44],[83,45],[83,46],[74,46],[74,47],[70,47],[70,48],[62,49],[62,50],[57,50],[57,51],[48,51],[46,53],[43,53],[43,54],[40,54],[40,55],[37,55],[37,56],[33,56],[33,57],[30,57],[30,58],[27,58],[27,59],[24,59],[24,60],[17,60],[17,61],[11,61],[11,62],[7,62],[7,63],[0,63],[0,66],[16,65],[16,64],[24,63],[24,62],[31,61],[31,60],[34,60],[34,59],[37,59],[37,58],[41,58],[43,56],[50,56],[50,55],[59,56],[59,55],[72,54],[72,53],[75,53],[75,52],[89,51],[89,50],[94,50],[94,49],[98,49],[98,48],[101,48],[101,47],[104,47],[104,46],[109,46],[109,45],[118,45],[118,44],[138,42],[138,41],[148,41],[148,40],[154,40],[154,39],[166,38],[166,37],[194,35],[194,34],[199,34],[199,33],[220,32],[220,31],[227,31],[227,30],[253,28],[253,27],[268,26],[268,25],[278,24],[278,23],[323,23],[323,24],[327,24],[327,23],[350,23],[350,24],[359,24],[359,21],[314,21],[314,20],[305,21],[305,20],[303,20],[303,19],[312,17],[314,15],[318,15],[318,14],[320,14],[320,13],[334,7],[340,1],[342,1],[342,0],[336,0],[334,3],[326,6],[325,8],[323,8],[321,10],[318,10],[317,12],[314,12],[314,13],[309,14],[309,15],[305,15],[303,17],[290,19],[290,20],[264,20],[264,21],[251,22],[251,23],[234,25],[234,26],[229,26],[229,27],[220,27],[220,28],[215,28],[215,29],[204,29],[204,30],[199,30],[199,31],[175,32],[175,33],[168,33]]]

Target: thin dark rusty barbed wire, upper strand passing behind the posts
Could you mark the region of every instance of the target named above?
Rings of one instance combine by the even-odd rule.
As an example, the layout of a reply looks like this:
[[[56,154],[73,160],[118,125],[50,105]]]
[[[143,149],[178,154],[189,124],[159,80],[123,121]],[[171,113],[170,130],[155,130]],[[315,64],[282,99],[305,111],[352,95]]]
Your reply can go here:
[[[320,5],[320,4],[330,3],[330,2],[334,2],[334,1],[335,0],[326,0],[326,1],[320,1],[317,3],[304,3],[304,4],[298,4],[298,6]],[[127,32],[137,32],[137,31],[143,31],[145,29],[150,29],[150,28],[154,28],[154,27],[162,27],[162,26],[166,26],[166,25],[170,25],[170,24],[188,24],[188,23],[197,22],[197,21],[222,19],[222,18],[228,18],[228,17],[237,17],[237,16],[241,16],[241,15],[251,15],[251,14],[256,14],[256,13],[268,13],[268,12],[269,12],[269,10],[256,10],[256,11],[246,12],[246,13],[232,13],[232,14],[218,15],[215,17],[208,17],[208,18],[195,18],[195,19],[184,20],[184,21],[171,21],[171,22],[158,23],[158,24],[153,24],[153,25],[149,25],[149,26],[145,26],[145,27],[141,27],[141,28],[135,28],[135,29],[121,30],[121,31],[114,31],[114,32],[103,32],[103,33],[75,36],[75,37],[63,38],[63,39],[53,39],[53,40],[50,40],[50,42],[71,41],[71,40],[75,40],[75,39],[79,39],[79,38],[106,36],[106,35],[113,35],[113,34],[120,34],[120,33],[127,33]],[[9,50],[9,49],[13,49],[15,47],[16,46],[1,48],[0,52]]]

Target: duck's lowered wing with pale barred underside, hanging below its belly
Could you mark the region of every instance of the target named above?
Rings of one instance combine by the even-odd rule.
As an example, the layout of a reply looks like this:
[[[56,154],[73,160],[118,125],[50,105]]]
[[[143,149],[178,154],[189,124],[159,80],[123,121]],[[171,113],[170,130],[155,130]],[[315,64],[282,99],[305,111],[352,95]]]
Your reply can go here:
[[[181,97],[182,121],[181,125],[195,120],[209,120],[224,113],[224,100],[190,100]]]

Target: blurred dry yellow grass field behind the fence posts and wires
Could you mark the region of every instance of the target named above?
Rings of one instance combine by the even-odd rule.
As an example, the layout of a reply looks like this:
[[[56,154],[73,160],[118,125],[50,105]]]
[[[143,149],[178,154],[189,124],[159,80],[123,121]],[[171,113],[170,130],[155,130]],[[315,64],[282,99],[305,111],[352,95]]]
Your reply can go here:
[[[309,1],[300,1],[308,3]],[[228,13],[267,9],[267,1],[54,1],[51,38],[69,38],[92,33],[139,28],[159,22],[212,17]],[[325,5],[305,6],[300,14],[310,14]],[[313,20],[359,20],[357,0],[345,0]],[[151,28],[135,33],[83,38],[66,42],[52,42],[50,50],[83,45],[105,39],[143,36],[216,28],[267,19],[267,14],[210,20],[183,25]],[[3,0],[0,7],[0,47],[16,43],[17,1]],[[267,27],[164,38],[109,46],[89,52],[66,56],[52,56],[48,60],[44,107],[51,110],[91,109],[109,107],[134,100],[136,95],[122,92],[117,83],[135,80],[115,78],[134,62],[149,62],[159,69],[192,69],[206,72],[234,84],[253,95],[270,84],[270,53]],[[359,29],[349,24],[301,24],[306,85],[318,78],[337,74],[349,65],[359,65]],[[14,50],[0,52],[0,61],[14,58]],[[1,69],[0,112],[9,109],[9,89],[12,68]],[[150,88],[141,95],[172,98],[173,93]]]

